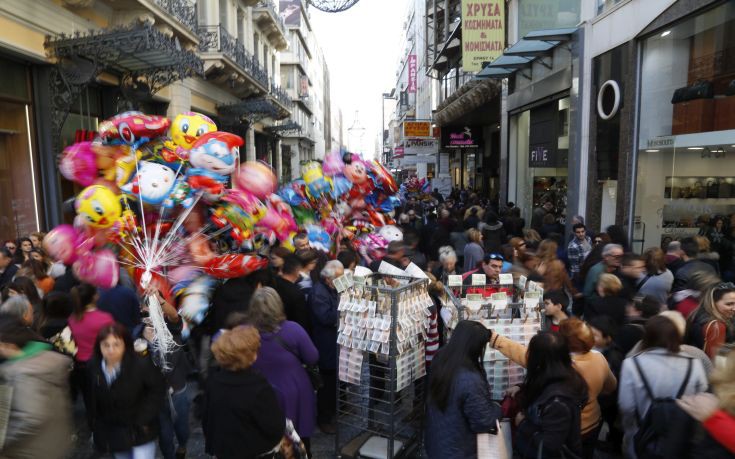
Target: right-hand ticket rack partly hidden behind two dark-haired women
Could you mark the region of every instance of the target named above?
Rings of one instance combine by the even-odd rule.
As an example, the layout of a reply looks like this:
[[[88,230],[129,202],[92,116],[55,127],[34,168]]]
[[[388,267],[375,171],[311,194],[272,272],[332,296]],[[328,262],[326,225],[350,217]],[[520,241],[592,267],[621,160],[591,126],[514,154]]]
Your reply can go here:
[[[445,286],[441,315],[446,333],[451,335],[460,320],[476,320],[528,346],[544,320],[540,307],[543,291],[529,284]],[[509,387],[523,382],[525,369],[489,346],[483,363],[494,400],[502,400]]]

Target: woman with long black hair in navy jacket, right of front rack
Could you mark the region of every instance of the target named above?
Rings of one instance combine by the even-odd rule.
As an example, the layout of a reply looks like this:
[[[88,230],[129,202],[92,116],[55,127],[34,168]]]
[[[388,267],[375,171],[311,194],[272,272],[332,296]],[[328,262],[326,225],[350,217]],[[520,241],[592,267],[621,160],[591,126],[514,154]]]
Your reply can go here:
[[[430,459],[476,458],[476,435],[494,430],[502,417],[482,367],[490,336],[479,322],[463,320],[431,363],[425,433]]]

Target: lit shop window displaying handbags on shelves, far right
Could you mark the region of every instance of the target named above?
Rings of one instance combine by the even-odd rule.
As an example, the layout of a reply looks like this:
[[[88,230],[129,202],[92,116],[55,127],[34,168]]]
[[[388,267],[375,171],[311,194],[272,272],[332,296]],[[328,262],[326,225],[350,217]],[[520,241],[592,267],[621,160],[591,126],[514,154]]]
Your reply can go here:
[[[640,44],[634,237],[706,233],[735,214],[735,3],[657,28]],[[729,236],[729,235],[727,235]]]

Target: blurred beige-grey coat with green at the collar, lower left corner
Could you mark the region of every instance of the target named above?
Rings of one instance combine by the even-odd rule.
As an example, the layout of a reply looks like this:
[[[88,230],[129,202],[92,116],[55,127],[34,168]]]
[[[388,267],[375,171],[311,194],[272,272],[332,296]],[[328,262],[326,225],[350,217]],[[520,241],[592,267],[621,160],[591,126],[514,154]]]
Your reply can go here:
[[[34,348],[33,352],[27,352]],[[72,447],[69,399],[72,359],[31,342],[28,355],[0,365],[0,380],[12,388],[5,443],[0,457],[61,459]]]

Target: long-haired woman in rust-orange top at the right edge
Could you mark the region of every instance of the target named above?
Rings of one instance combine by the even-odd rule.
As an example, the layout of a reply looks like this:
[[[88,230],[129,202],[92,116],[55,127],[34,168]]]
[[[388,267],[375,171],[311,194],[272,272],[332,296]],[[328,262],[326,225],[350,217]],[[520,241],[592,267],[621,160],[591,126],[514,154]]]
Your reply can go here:
[[[735,284],[721,282],[705,292],[688,318],[687,341],[710,358],[723,344],[735,342]]]

